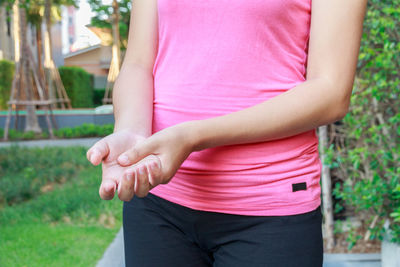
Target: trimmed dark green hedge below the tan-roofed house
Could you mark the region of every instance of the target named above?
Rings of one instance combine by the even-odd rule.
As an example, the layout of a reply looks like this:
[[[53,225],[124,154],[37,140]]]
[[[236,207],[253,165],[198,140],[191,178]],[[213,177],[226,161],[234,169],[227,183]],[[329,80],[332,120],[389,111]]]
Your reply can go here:
[[[62,66],[59,72],[72,107],[93,107],[93,75],[80,67]]]

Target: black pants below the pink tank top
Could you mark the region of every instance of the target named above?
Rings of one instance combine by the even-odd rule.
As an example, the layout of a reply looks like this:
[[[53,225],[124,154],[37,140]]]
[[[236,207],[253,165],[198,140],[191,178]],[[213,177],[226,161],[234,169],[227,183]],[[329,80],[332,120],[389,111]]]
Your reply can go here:
[[[126,266],[319,267],[320,208],[290,216],[193,210],[149,194],[123,205]]]

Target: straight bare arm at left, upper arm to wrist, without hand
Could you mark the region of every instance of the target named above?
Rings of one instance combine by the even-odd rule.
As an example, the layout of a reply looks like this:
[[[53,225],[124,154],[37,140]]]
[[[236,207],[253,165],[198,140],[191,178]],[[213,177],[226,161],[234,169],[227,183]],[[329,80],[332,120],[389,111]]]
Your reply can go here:
[[[114,131],[151,135],[157,24],[157,0],[133,1],[127,51],[113,89]]]

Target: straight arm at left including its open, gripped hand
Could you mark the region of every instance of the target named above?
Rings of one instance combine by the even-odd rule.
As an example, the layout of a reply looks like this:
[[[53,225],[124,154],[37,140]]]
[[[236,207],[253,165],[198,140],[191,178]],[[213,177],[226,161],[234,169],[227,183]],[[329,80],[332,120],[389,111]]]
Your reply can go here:
[[[157,25],[157,0],[135,0],[128,47],[113,90],[114,133],[102,138],[87,152],[93,165],[102,164],[99,188],[102,199],[112,199],[118,189],[118,197],[129,201],[134,194],[143,196],[150,188],[148,182],[143,184],[143,175],[136,175],[136,171],[123,176],[126,168],[119,166],[116,160],[121,153],[151,135]],[[142,164],[153,166],[154,173],[159,166],[157,162],[157,158],[149,156]]]

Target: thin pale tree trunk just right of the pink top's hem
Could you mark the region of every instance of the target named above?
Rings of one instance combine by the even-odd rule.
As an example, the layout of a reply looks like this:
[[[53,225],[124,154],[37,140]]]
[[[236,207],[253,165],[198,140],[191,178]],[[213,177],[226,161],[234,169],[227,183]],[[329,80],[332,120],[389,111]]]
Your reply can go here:
[[[333,209],[332,209],[332,181],[329,171],[329,166],[324,164],[325,152],[324,149],[328,147],[328,131],[327,125],[319,127],[319,144],[320,144],[320,154],[322,161],[322,207],[324,213],[324,232],[326,237],[326,248],[328,250],[333,249],[335,246],[335,236],[333,234]]]

